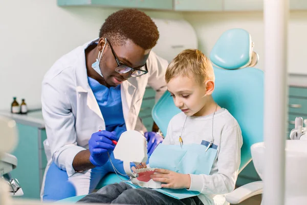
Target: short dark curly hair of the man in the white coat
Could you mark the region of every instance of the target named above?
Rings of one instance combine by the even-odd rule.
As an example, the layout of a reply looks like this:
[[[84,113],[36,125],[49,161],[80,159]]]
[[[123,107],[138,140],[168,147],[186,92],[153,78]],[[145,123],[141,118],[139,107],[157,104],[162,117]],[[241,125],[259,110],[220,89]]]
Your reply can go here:
[[[153,20],[137,9],[122,9],[109,15],[100,28],[99,38],[123,46],[127,39],[147,50],[156,46],[159,31]]]

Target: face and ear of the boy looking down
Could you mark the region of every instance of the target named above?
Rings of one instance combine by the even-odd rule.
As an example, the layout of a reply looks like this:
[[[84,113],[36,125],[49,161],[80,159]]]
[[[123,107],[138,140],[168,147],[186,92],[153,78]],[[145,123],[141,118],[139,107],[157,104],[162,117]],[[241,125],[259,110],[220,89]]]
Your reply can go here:
[[[214,87],[213,81],[209,80]],[[208,82],[208,81],[207,81]],[[185,76],[170,79],[167,90],[171,93],[174,104],[188,116],[202,116],[201,110],[209,100],[213,88],[207,89],[207,82],[200,85],[196,80]]]

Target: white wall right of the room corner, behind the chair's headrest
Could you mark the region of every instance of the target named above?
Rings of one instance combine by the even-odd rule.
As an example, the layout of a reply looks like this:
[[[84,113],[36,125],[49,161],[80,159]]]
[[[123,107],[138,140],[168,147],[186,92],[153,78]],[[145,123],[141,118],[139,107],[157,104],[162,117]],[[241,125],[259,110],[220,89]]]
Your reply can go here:
[[[184,18],[192,24],[200,49],[208,55],[220,35],[231,28],[246,29],[259,54],[257,68],[264,70],[264,22],[262,12],[187,12]],[[291,11],[288,35],[289,73],[307,74],[307,11]]]

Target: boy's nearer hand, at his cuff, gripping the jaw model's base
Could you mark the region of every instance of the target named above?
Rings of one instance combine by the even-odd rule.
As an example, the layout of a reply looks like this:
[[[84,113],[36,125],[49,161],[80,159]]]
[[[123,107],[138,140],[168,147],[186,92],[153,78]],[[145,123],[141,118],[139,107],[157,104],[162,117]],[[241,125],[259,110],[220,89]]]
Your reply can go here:
[[[191,186],[191,177],[188,174],[180,174],[165,169],[156,169],[156,174],[151,175],[153,181],[162,182],[162,188],[169,189],[189,189]]]

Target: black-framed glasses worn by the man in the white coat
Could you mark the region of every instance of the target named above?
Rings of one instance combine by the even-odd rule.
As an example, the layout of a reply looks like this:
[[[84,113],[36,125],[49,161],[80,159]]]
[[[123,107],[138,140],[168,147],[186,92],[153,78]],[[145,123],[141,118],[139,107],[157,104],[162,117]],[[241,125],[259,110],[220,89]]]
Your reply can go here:
[[[144,66],[140,66],[139,68],[131,68],[130,66],[127,66],[126,64],[124,64],[122,61],[120,61],[111,45],[111,43],[106,39],[106,41],[108,42],[108,44],[110,45],[110,48],[111,48],[111,51],[113,53],[113,56],[116,60],[116,63],[117,63],[117,67],[115,69],[116,72],[120,73],[120,74],[124,74],[124,73],[127,73],[127,72],[130,72],[130,76],[132,77],[138,77],[138,76],[141,76],[141,75],[144,75],[146,73],[148,73],[148,69],[147,69],[147,64],[145,63],[145,70],[142,70],[140,68],[144,67]]]

